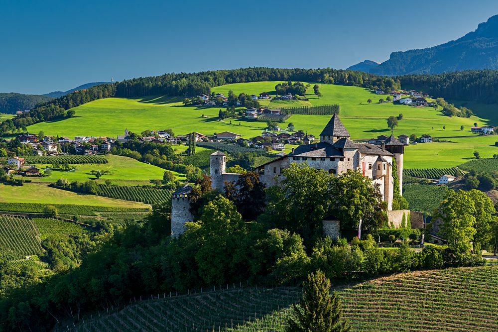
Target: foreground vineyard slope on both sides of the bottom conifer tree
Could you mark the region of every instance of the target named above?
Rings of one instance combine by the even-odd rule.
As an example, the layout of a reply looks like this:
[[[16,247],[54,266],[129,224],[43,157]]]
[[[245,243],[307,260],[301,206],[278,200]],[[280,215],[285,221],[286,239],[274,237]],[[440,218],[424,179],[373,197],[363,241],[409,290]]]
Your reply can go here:
[[[132,299],[122,310],[85,318],[85,323],[76,324],[76,331],[284,331],[299,288],[238,286],[215,292],[204,289],[204,294],[199,290],[172,297],[156,294],[147,301]],[[498,329],[493,315],[498,296],[496,266],[415,271],[337,291],[352,331]]]

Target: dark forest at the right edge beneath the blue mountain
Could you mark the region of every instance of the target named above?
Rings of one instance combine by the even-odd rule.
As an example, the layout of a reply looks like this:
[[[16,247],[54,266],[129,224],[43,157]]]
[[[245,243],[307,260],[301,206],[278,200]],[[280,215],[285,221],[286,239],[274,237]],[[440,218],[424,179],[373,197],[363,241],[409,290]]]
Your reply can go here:
[[[467,70],[463,72],[404,75],[396,77],[403,87],[420,89],[429,95],[485,104],[498,103],[498,71]]]

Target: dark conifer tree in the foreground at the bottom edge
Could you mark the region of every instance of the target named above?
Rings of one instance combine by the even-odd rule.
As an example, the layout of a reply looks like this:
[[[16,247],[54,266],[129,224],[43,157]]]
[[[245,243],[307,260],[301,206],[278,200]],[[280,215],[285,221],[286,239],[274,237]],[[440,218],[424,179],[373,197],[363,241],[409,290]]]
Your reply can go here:
[[[304,283],[303,297],[298,308],[293,305],[296,320],[289,319],[287,332],[348,332],[350,327],[342,319],[341,300],[336,292],[329,293],[330,280],[321,271],[309,274]]]

